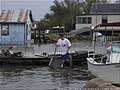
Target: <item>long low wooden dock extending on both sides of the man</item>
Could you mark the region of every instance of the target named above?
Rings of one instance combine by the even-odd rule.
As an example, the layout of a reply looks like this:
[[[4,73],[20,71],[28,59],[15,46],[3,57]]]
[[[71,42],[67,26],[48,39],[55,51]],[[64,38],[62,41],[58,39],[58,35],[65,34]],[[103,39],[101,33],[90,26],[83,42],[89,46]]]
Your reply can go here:
[[[73,64],[78,63],[86,63],[87,58],[87,51],[80,51],[76,53],[71,53],[72,55],[72,61]],[[23,56],[23,57],[0,57],[0,64],[48,64],[51,57],[51,55],[29,55],[29,56]],[[55,55],[56,57],[59,56],[59,54]]]

